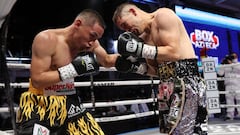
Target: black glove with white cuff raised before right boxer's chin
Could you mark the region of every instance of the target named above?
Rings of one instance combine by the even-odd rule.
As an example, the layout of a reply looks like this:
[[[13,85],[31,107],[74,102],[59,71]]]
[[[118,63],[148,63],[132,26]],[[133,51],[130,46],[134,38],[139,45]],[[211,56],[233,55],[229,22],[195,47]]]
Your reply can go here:
[[[156,59],[157,46],[145,44],[139,37],[131,32],[124,32],[118,37],[118,53],[137,57]]]

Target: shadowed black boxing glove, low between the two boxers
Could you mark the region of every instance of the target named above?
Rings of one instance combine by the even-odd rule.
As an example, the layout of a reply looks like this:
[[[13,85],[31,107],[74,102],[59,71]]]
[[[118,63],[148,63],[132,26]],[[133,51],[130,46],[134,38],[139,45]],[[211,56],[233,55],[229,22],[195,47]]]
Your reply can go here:
[[[117,71],[123,73],[137,73],[145,75],[147,73],[147,63],[133,56],[118,56],[115,67]]]

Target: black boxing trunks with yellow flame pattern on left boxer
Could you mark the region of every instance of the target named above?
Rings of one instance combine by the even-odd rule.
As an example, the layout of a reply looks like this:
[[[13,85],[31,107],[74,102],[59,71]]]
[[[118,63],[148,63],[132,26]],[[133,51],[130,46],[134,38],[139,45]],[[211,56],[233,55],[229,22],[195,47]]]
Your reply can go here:
[[[18,135],[104,135],[77,95],[43,96],[30,84],[17,112]]]

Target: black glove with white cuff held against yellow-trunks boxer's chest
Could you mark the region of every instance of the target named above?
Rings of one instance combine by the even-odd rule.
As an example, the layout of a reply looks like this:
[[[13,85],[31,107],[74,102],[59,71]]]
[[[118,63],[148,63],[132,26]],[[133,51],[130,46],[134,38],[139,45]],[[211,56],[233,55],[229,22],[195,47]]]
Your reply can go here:
[[[93,53],[78,54],[73,61],[63,67],[58,68],[62,81],[76,76],[94,74],[99,71],[99,65]]]

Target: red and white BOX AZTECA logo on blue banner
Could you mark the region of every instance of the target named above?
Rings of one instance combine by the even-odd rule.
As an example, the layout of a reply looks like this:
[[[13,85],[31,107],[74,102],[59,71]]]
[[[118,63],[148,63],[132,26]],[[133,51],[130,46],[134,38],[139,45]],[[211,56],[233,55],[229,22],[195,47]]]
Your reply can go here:
[[[190,38],[196,48],[217,49],[219,46],[219,38],[213,31],[195,29]]]

